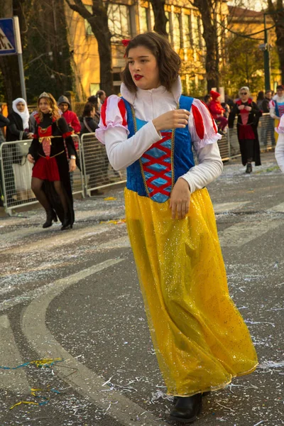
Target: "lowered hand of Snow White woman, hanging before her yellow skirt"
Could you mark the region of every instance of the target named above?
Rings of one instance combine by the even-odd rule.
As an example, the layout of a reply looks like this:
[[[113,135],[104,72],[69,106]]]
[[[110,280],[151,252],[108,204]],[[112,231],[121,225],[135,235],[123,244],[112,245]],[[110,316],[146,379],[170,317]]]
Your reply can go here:
[[[173,191],[170,195],[170,209],[172,209],[172,218],[184,219],[190,208],[190,187],[185,179],[178,179],[175,182]]]

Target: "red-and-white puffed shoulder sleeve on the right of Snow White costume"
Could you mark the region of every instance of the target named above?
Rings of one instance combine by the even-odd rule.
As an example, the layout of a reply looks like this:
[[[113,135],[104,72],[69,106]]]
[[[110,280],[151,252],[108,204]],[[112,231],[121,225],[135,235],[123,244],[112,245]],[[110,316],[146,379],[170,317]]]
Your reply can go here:
[[[194,99],[191,107],[188,129],[192,137],[195,151],[222,138],[217,131],[217,125],[207,106],[199,99]]]

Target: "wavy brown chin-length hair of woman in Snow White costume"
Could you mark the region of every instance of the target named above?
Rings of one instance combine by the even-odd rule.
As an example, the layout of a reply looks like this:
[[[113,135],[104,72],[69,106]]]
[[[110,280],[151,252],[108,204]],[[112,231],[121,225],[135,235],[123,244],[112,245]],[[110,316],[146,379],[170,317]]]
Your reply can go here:
[[[127,89],[129,89],[130,92],[136,92],[137,90],[136,84],[133,82],[129,71],[127,58],[129,56],[129,50],[137,48],[138,46],[147,48],[155,56],[159,67],[160,84],[165,86],[167,90],[170,90],[173,83],[178,78],[181,60],[178,53],[175,53],[175,50],[171,47],[168,39],[152,31],[136,35],[136,37],[130,40],[126,48],[126,67],[124,71],[121,72],[121,79]]]

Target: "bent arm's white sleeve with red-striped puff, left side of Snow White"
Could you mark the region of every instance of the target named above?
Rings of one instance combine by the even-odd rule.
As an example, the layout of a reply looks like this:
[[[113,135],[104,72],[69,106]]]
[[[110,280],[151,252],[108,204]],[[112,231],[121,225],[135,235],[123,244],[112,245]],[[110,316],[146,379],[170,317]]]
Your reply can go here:
[[[152,121],[128,138],[126,107],[124,101],[116,95],[107,98],[102,106],[96,136],[105,144],[109,163],[115,170],[124,169],[134,163],[153,143],[162,138]]]

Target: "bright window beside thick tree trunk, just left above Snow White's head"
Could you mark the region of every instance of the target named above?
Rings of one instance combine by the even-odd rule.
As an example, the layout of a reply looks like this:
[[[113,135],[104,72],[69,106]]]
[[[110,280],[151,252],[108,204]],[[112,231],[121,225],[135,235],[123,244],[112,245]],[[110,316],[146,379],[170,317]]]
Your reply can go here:
[[[109,31],[113,35],[111,42],[121,42],[123,38],[131,38],[129,6],[124,4],[109,4]]]

